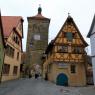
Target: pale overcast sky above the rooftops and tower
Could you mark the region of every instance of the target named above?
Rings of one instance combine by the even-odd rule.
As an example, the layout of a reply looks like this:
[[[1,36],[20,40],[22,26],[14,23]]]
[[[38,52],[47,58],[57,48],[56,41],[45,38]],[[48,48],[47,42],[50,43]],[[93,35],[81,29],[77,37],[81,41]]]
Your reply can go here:
[[[24,19],[23,50],[26,50],[27,17],[35,16],[41,4],[42,15],[50,18],[49,42],[59,32],[68,13],[74,19],[82,36],[89,44],[86,48],[90,51],[90,40],[87,38],[93,16],[95,14],[95,0],[0,0],[1,14],[4,16],[22,16]]]

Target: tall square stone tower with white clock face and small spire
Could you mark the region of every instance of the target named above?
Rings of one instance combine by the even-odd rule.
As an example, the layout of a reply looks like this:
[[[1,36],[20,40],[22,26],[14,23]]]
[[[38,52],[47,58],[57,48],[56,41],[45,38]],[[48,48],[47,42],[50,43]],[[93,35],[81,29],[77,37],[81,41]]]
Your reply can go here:
[[[28,17],[28,34],[26,46],[26,63],[31,69],[35,64],[41,65],[42,55],[48,45],[50,19],[42,16],[42,8],[38,8],[36,16]]]

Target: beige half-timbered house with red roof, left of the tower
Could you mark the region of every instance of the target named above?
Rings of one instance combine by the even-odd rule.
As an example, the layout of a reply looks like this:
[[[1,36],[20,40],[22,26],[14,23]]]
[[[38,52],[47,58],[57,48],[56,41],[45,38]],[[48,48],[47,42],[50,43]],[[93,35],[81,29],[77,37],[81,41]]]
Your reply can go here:
[[[5,56],[1,81],[20,77],[23,19],[20,16],[2,16]]]

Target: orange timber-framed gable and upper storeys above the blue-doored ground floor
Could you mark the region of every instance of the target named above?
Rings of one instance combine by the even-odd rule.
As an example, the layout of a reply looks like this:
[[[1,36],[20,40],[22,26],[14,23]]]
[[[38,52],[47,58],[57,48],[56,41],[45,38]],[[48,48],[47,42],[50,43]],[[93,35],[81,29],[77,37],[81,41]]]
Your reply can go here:
[[[80,31],[73,19],[69,16],[54,40],[56,61],[84,62],[85,47]]]

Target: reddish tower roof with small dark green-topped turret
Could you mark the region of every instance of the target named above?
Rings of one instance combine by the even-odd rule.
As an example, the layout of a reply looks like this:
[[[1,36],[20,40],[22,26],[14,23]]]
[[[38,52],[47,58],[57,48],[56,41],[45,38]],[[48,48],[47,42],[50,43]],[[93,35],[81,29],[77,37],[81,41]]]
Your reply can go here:
[[[49,18],[46,18],[42,15],[42,8],[40,6],[38,7],[38,14],[28,18],[37,20],[50,20]]]

